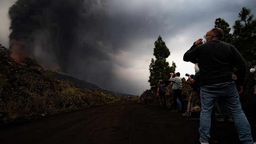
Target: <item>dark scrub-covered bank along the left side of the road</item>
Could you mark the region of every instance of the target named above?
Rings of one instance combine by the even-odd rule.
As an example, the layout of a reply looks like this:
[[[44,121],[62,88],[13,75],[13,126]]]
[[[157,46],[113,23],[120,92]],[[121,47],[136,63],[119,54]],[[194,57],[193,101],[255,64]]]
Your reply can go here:
[[[58,80],[51,70],[44,71],[36,59],[25,56],[18,61],[11,54],[0,44],[0,123],[120,100],[117,95],[100,89],[93,90]]]

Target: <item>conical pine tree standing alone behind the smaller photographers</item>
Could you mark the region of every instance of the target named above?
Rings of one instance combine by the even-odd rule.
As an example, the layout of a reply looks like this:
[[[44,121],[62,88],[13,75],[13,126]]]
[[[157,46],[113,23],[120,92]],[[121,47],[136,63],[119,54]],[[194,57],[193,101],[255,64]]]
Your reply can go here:
[[[157,83],[159,79],[163,79],[163,81],[167,81],[170,78],[170,73],[175,72],[176,65],[172,61],[172,66],[169,66],[169,62],[166,61],[166,58],[170,56],[170,51],[165,45],[165,42],[162,40],[162,37],[159,36],[155,41],[154,48],[154,56],[156,60],[151,59],[151,63],[149,65],[149,80],[151,90],[156,90]]]

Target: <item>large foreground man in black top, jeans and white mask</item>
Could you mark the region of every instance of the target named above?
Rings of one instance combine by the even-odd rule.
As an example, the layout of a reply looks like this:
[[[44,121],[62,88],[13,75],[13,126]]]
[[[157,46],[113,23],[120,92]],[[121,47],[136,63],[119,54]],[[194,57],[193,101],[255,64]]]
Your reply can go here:
[[[201,82],[200,142],[208,144],[210,138],[211,113],[215,99],[220,97],[230,110],[239,135],[244,144],[253,144],[251,127],[241,108],[239,94],[243,91],[246,75],[246,63],[236,48],[220,41],[223,37],[221,28],[213,28],[184,54],[184,61],[198,59]],[[236,84],[233,81],[231,68],[236,67]]]

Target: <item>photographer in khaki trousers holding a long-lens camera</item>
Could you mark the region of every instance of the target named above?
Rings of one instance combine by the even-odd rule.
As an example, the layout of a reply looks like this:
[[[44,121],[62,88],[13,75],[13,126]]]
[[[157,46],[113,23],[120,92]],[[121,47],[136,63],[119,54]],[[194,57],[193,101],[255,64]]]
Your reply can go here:
[[[182,116],[191,115],[191,108],[193,108],[193,103],[197,99],[200,99],[200,77],[199,77],[199,68],[197,66],[197,63],[195,63],[195,70],[196,70],[195,75],[186,74],[186,76],[188,76],[188,79],[191,83],[190,85],[191,85],[193,90],[192,90],[191,95],[189,96],[189,99],[188,99],[187,111],[184,114],[182,114]]]

